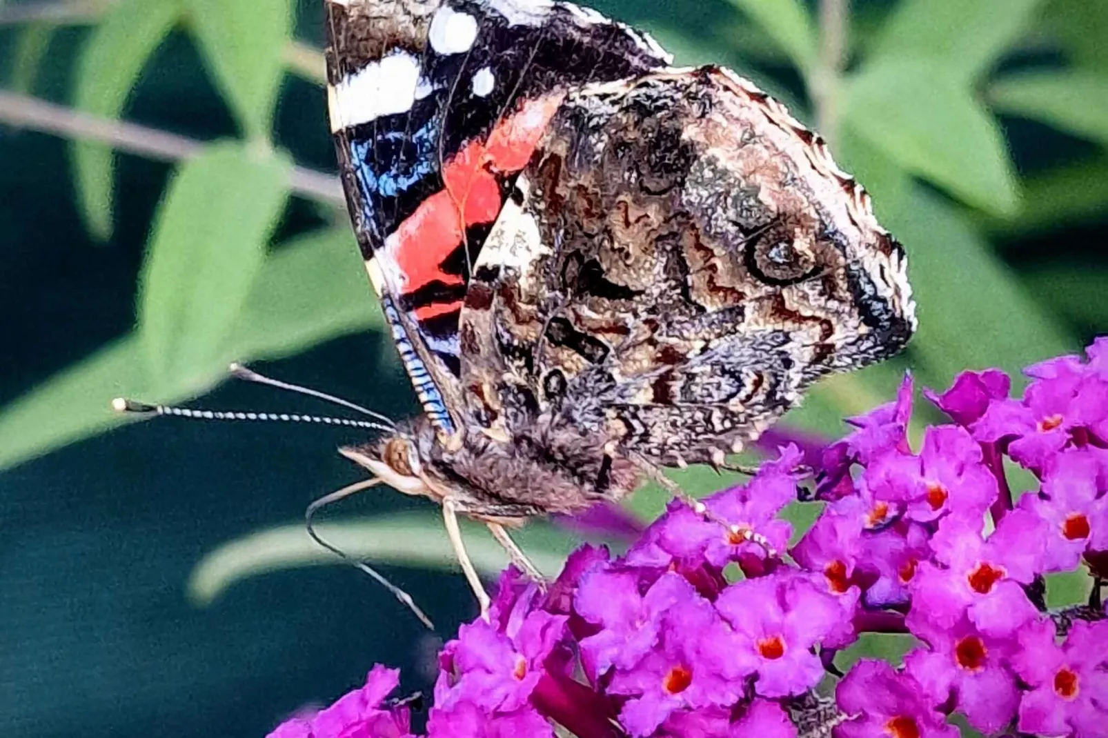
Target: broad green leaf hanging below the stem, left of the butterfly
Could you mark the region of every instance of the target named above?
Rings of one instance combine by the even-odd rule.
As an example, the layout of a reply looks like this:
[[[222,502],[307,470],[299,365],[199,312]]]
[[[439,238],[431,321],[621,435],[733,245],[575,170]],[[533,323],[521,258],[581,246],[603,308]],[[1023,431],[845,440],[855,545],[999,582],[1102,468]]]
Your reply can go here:
[[[220,143],[171,182],[140,279],[138,329],[156,377],[187,387],[222,361],[288,196],[289,170],[284,155]]]

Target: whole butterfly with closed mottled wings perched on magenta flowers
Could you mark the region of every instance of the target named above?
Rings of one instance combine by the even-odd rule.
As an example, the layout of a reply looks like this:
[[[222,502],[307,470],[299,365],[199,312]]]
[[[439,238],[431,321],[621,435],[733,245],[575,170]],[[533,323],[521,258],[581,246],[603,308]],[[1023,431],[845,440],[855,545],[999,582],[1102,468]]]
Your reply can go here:
[[[342,453],[506,532],[720,465],[915,330],[902,246],[819,135],[550,0],[326,0],[348,209],[422,414]]]

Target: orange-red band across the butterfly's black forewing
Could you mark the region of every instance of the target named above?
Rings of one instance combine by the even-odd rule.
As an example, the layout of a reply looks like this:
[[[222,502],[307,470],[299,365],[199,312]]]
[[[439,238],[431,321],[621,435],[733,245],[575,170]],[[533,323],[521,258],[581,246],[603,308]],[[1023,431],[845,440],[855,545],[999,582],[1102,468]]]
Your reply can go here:
[[[388,256],[404,276],[402,294],[410,295],[435,280],[463,284],[460,276],[447,274],[440,265],[462,243],[466,227],[492,223],[500,215],[503,203],[495,175],[526,166],[564,96],[556,93],[529,100],[501,121],[488,141],[471,141],[447,162],[443,189],[423,201],[400,224],[394,243],[387,247]],[[422,310],[435,308],[427,306]],[[444,307],[434,315],[449,309]]]

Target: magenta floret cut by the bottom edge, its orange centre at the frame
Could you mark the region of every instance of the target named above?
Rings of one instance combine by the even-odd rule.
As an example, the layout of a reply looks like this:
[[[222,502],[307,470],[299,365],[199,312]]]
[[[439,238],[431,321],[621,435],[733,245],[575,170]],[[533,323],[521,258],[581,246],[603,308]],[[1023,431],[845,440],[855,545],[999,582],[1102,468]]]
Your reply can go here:
[[[839,709],[852,719],[835,738],[957,738],[958,730],[923,694],[915,678],[886,662],[863,659],[835,687]]]

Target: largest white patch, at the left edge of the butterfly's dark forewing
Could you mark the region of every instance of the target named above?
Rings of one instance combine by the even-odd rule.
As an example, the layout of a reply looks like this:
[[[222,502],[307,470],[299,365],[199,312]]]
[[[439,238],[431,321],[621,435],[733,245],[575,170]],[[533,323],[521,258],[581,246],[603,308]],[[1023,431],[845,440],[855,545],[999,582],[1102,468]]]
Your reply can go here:
[[[398,51],[346,76],[328,92],[331,130],[407,113],[420,84],[419,61]]]

